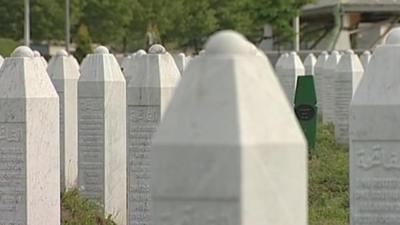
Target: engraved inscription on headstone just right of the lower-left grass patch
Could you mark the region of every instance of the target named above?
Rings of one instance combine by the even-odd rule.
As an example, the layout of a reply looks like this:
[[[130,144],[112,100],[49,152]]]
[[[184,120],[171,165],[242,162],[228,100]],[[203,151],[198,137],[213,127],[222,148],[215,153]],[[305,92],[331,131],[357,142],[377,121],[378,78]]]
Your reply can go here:
[[[102,98],[79,99],[79,184],[82,194],[104,203],[104,106]]]

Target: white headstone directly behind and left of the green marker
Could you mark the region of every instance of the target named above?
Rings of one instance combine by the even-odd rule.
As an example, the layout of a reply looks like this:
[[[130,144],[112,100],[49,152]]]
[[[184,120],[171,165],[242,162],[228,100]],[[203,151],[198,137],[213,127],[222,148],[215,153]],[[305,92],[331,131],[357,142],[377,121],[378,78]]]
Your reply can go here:
[[[303,63],[296,52],[291,52],[282,62],[281,71],[281,74],[278,74],[279,80],[289,102],[293,104],[297,77],[306,73]]]

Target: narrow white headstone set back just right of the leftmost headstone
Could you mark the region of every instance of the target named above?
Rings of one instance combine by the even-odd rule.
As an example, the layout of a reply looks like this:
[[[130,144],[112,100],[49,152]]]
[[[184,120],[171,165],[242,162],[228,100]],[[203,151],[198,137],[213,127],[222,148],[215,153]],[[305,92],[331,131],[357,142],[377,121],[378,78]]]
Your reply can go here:
[[[75,188],[78,179],[78,79],[74,58],[61,50],[47,72],[60,98],[61,191]]]

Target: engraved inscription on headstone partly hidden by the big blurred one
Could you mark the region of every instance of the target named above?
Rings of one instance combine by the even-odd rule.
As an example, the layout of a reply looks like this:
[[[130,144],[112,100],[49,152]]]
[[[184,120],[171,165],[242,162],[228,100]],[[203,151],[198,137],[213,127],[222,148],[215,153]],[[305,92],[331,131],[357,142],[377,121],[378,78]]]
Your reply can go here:
[[[150,144],[160,120],[160,106],[129,106],[128,159],[130,224],[150,224]]]

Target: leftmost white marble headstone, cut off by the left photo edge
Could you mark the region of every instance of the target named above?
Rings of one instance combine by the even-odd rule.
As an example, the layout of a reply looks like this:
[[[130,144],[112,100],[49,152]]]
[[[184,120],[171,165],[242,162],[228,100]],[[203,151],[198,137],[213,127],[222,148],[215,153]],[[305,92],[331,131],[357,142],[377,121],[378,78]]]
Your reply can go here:
[[[18,47],[0,69],[0,224],[60,224],[59,103]]]

